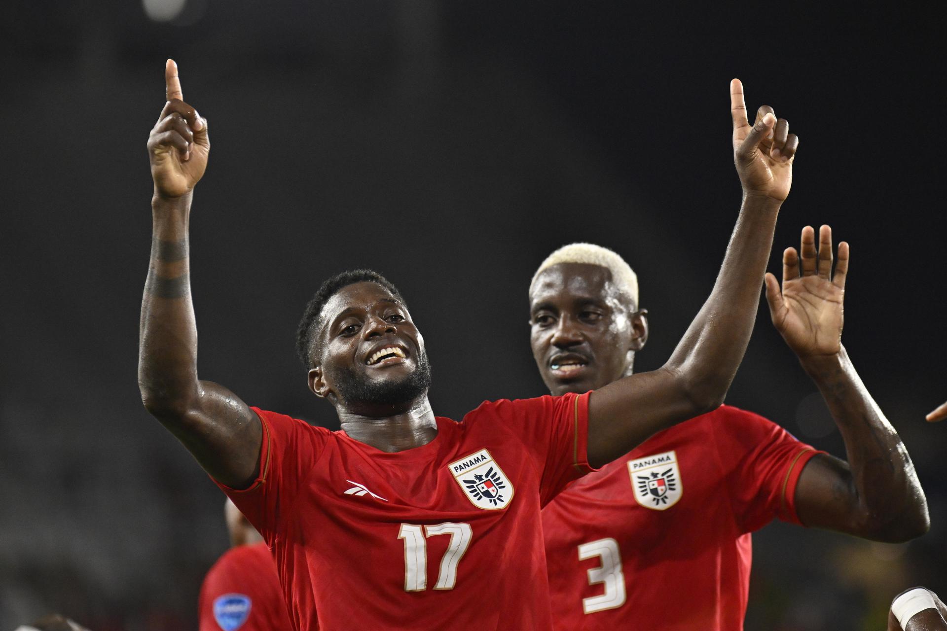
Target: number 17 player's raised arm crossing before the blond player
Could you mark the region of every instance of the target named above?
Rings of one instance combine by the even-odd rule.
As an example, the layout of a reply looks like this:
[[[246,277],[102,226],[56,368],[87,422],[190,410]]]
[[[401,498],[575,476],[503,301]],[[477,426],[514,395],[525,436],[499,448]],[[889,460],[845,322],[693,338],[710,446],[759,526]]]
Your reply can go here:
[[[749,124],[739,79],[730,83],[730,111],[743,202],[724,265],[664,366],[618,379],[591,395],[588,460],[594,466],[627,453],[656,431],[719,407],[743,358],[777,214],[792,184],[798,139],[771,110]]]

